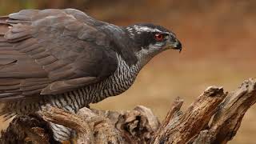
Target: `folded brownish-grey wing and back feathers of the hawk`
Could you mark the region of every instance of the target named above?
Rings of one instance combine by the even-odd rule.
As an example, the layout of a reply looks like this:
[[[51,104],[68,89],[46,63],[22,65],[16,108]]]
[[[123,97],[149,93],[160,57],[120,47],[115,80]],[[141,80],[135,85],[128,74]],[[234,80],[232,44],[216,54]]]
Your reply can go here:
[[[94,24],[72,9],[0,17],[0,102],[62,94],[113,74],[115,52]]]

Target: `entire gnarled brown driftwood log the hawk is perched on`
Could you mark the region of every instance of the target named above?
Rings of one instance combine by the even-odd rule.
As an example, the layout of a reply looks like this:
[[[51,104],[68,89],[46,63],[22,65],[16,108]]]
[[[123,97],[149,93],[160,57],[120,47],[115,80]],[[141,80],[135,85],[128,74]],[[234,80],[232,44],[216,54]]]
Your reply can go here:
[[[74,143],[226,143],[255,102],[256,80],[250,78],[229,94],[222,87],[208,87],[183,112],[183,100],[176,98],[162,124],[145,106],[121,112],[83,108],[78,114],[50,107],[14,118],[0,143],[58,143],[48,122],[75,130]]]

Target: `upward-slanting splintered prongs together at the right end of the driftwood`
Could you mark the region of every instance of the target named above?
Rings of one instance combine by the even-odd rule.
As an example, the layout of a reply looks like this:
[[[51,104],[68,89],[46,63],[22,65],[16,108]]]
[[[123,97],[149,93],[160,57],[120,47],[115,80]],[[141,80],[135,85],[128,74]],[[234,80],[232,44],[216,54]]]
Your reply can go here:
[[[242,118],[256,102],[256,81],[250,78],[230,94],[210,86],[182,113],[182,100],[174,102],[151,143],[227,143],[237,133]],[[170,116],[172,114],[172,116]],[[167,124],[166,124],[167,123]]]

